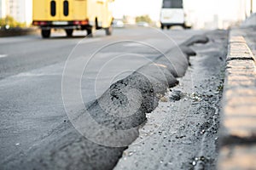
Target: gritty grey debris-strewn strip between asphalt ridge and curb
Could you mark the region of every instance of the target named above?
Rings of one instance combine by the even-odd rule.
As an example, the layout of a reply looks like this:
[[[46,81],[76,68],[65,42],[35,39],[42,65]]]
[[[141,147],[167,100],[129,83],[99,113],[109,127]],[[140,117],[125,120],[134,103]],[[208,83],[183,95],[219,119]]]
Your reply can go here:
[[[191,46],[197,55],[185,76],[146,114],[148,121],[114,170],[216,168],[228,34],[212,31],[207,37],[207,44]]]

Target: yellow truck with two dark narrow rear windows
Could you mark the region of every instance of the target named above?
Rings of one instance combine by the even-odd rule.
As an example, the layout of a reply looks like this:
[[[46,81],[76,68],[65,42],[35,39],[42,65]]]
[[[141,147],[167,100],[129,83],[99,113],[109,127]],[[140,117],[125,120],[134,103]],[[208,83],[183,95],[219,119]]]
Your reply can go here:
[[[113,16],[109,9],[114,0],[33,0],[32,25],[41,28],[44,38],[51,29],[64,29],[67,37],[73,30],[85,30],[92,36],[94,29],[105,29],[112,34]]]

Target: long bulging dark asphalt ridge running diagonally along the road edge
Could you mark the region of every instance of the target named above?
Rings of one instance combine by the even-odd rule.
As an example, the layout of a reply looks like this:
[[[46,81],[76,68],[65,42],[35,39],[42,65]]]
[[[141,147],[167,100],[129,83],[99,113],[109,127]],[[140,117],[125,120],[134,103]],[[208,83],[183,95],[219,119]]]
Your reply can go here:
[[[82,129],[80,133],[90,132],[89,139],[71,127],[71,123],[63,123],[51,134],[58,133],[57,138],[43,141],[42,147],[30,150],[32,154],[28,154],[26,162],[13,161],[14,168],[19,165],[20,169],[113,169],[127,145],[137,139],[138,126],[146,121],[145,113],[154,111],[161,94],[177,85],[177,77],[185,74],[189,55],[195,54],[189,46],[196,42],[206,43],[208,38],[192,37],[179,48],[170,49],[153,63],[113,83],[87,111],[81,111],[73,122]],[[107,130],[88,122],[85,112],[102,127],[108,127]]]

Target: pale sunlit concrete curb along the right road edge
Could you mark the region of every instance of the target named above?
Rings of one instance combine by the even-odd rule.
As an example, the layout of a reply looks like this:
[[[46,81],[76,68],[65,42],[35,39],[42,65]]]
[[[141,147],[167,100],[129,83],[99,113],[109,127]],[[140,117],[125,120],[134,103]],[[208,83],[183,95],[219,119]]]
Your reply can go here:
[[[230,31],[218,169],[256,169],[256,60],[242,35]]]

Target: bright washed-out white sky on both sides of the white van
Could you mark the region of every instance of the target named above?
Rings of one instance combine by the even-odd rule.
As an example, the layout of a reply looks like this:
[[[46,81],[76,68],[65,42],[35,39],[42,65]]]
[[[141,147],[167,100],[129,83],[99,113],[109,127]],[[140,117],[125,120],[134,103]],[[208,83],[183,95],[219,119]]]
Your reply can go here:
[[[204,21],[213,20],[214,14],[222,20],[239,20],[245,16],[245,8],[249,11],[250,0],[183,0],[184,7],[196,18]],[[256,9],[256,0],[253,5]],[[115,0],[113,3],[114,18],[123,15],[149,14],[153,20],[159,20],[162,0]]]

